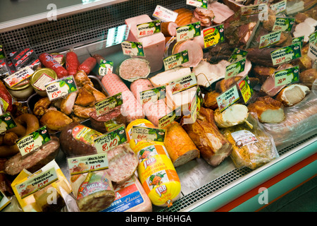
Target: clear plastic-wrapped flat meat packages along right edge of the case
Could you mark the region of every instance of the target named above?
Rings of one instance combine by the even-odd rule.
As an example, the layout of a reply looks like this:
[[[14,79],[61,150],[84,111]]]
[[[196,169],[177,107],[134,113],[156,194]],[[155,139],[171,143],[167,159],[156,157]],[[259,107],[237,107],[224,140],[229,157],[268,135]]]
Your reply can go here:
[[[299,138],[317,131],[317,80],[309,95],[292,107],[285,107],[285,120],[278,124],[263,124],[273,136],[275,145],[292,145]]]

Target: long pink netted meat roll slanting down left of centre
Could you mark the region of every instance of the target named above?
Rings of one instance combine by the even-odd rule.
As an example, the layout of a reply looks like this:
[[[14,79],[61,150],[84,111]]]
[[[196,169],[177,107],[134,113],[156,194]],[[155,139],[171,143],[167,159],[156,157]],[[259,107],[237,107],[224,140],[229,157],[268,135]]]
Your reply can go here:
[[[122,93],[123,105],[121,107],[121,113],[127,118],[128,122],[135,119],[144,119],[145,115],[142,105],[135,99],[133,93],[129,90],[128,86],[123,83],[119,76],[115,73],[108,73],[102,78],[101,83],[111,96]]]

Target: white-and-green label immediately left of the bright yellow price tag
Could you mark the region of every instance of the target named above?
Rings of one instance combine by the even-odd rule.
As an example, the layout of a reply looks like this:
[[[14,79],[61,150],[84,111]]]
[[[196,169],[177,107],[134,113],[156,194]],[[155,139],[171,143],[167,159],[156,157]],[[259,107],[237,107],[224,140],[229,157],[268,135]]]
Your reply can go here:
[[[178,42],[197,37],[201,34],[200,21],[176,28],[176,40]]]

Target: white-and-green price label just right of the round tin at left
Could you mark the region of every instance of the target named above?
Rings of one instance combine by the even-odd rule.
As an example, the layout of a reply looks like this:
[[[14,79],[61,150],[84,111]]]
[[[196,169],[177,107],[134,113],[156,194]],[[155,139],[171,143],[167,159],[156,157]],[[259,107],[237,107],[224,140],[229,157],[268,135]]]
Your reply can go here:
[[[67,97],[68,94],[77,91],[77,85],[73,76],[60,78],[45,85],[45,90],[49,100],[56,100]]]

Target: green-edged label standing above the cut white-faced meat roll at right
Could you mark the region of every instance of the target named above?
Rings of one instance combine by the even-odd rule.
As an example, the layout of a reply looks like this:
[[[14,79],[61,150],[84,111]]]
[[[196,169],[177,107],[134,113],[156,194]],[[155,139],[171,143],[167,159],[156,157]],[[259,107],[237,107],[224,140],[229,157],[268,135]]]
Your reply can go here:
[[[276,71],[274,73],[275,86],[289,85],[299,82],[299,66]]]

